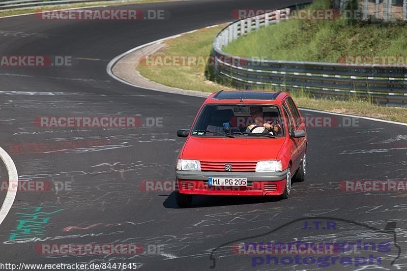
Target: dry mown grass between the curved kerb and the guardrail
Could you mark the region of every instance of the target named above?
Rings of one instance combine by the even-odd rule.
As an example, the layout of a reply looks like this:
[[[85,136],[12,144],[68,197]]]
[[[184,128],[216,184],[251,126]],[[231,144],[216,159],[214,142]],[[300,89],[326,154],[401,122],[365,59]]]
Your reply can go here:
[[[214,36],[223,28],[203,28],[197,32],[183,35],[179,38],[164,42],[165,47],[152,56],[207,56],[209,55]],[[219,89],[232,89],[209,81],[205,77],[205,67],[197,66],[138,66],[140,74],[152,81],[182,89],[194,89],[202,92],[215,92]],[[385,107],[371,104],[367,101],[351,99],[350,101],[335,101],[329,99],[315,99],[304,92],[291,92],[298,106],[335,113],[355,114],[376,117],[389,121],[407,123],[407,109],[399,107]]]

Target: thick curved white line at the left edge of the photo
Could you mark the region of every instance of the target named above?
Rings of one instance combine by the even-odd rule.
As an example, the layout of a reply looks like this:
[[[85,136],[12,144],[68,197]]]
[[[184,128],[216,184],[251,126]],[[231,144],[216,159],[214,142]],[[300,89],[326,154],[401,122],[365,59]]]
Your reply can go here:
[[[16,165],[13,162],[13,159],[6,153],[2,147],[0,147],[0,158],[3,160],[6,165],[7,171],[9,172],[9,186],[8,187],[18,187],[18,174]],[[14,190],[14,191],[12,191]],[[4,219],[10,211],[11,206],[13,205],[14,199],[16,198],[17,189],[8,190],[6,198],[4,199],[2,208],[0,209],[0,225],[2,225]]]

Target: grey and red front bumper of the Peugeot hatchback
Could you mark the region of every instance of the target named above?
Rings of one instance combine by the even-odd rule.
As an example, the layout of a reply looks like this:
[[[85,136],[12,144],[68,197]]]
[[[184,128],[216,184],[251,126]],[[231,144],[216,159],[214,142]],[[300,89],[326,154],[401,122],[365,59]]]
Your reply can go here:
[[[281,172],[223,172],[176,170],[180,193],[195,195],[272,196],[284,192],[287,170]],[[248,186],[208,186],[210,177],[247,178]]]

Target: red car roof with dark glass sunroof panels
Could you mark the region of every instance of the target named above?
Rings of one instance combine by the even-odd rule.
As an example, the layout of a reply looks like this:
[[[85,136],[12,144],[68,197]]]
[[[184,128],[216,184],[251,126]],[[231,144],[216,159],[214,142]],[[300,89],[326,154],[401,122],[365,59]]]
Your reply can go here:
[[[269,91],[219,91],[211,94],[205,104],[236,103],[236,104],[281,104],[289,96],[286,92]]]

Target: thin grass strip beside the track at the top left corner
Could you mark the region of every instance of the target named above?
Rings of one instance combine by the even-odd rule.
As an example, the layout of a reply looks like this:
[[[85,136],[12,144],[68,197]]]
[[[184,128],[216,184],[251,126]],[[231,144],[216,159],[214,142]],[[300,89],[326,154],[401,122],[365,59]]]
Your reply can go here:
[[[41,12],[45,9],[47,10],[60,10],[60,9],[73,9],[73,8],[92,8],[92,7],[99,7],[99,6],[123,6],[123,5],[131,5],[131,4],[143,4],[143,3],[153,3],[153,2],[174,2],[174,1],[182,1],[182,0],[133,0],[133,1],[101,1],[101,2],[88,2],[88,3],[79,3],[79,4],[67,4],[67,5],[60,5],[60,6],[43,6],[43,7],[33,7],[30,9],[22,9],[22,10],[7,10],[7,11],[0,11],[0,18],[5,16],[11,15],[21,15],[21,14],[30,14]]]

